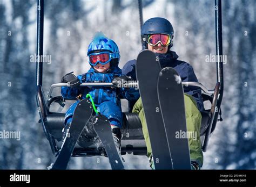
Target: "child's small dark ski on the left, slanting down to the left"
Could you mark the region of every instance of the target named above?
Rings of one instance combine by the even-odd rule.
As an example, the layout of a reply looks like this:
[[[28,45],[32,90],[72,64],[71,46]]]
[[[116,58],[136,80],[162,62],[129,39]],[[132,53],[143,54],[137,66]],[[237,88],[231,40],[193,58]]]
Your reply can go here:
[[[69,135],[66,135],[62,149],[51,169],[66,169],[72,156],[76,142],[93,113],[91,102],[81,100],[76,106]]]

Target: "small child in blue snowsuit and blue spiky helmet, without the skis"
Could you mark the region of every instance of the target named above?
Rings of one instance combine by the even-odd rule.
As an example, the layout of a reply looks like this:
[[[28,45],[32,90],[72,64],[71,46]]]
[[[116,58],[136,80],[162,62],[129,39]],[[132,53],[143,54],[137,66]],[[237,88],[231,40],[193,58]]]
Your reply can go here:
[[[138,98],[138,91],[134,88],[110,88],[110,87],[79,87],[80,83],[85,82],[112,82],[114,85],[120,84],[122,81],[130,81],[131,78],[122,75],[122,70],[118,67],[120,60],[119,49],[116,43],[105,37],[102,32],[96,33],[89,45],[88,62],[91,68],[87,73],[75,76],[71,73],[66,74],[62,78],[62,82],[70,83],[70,87],[62,87],[62,96],[64,98],[80,98],[84,99],[87,93],[90,93],[97,107],[98,112],[106,116],[111,124],[114,141],[120,151],[122,126],[122,110],[120,106],[120,96],[129,100]],[[66,129],[72,124],[72,116],[76,105],[73,103],[66,112],[64,125]]]

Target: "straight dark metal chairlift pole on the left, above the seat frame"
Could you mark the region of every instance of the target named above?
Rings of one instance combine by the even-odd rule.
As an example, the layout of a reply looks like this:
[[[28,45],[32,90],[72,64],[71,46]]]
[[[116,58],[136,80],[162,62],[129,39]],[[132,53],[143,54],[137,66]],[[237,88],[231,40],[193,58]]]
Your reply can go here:
[[[42,85],[43,62],[40,56],[43,55],[44,36],[44,0],[37,0],[37,61],[36,61],[36,85]]]

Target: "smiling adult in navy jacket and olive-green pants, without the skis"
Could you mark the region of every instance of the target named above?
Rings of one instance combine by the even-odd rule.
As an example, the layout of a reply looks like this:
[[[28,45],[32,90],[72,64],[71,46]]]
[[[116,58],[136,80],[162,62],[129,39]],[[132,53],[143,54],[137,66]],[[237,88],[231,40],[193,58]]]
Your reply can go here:
[[[158,56],[161,68],[172,67],[176,69],[183,82],[198,82],[192,66],[187,62],[177,60],[178,55],[176,52],[170,51],[173,45],[173,37],[173,27],[170,21],[164,18],[151,18],[147,20],[142,27],[142,39],[144,41],[144,47],[154,52],[156,56]],[[122,73],[131,76],[133,80],[137,80],[135,68],[136,60],[131,60],[125,64]],[[150,68],[150,64],[149,67],[145,67],[145,70],[146,68]],[[203,99],[201,98],[201,90],[197,89],[196,87],[184,87],[184,92],[187,131],[196,132],[197,134],[196,139],[188,139],[190,146],[191,167],[192,169],[199,169],[203,165],[203,153],[201,151],[200,142],[200,111],[204,110]],[[149,157],[151,167],[154,168],[149,133],[147,131],[141,98],[139,98],[133,106],[132,112],[139,113],[147,146],[147,156]]]

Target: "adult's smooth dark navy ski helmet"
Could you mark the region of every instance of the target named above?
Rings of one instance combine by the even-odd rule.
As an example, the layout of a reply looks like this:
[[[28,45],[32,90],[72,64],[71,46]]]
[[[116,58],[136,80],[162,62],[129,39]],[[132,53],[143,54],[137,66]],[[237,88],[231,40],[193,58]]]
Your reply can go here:
[[[150,18],[145,21],[142,26],[142,39],[144,41],[144,47],[147,49],[147,35],[148,34],[169,34],[172,39],[174,37],[174,30],[169,20],[165,18]],[[172,47],[172,44],[168,46],[168,50]]]

